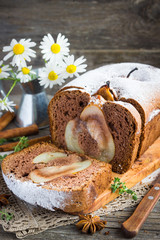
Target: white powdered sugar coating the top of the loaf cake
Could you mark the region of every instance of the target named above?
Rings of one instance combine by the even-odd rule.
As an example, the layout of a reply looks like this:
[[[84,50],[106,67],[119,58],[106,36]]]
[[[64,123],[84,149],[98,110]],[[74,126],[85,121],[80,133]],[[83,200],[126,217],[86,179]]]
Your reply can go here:
[[[128,73],[134,68],[138,70],[132,72],[127,78]],[[134,99],[141,105],[144,109],[145,122],[149,121],[150,112],[159,108],[160,69],[145,64],[106,65],[81,75],[69,82],[66,87],[83,87],[83,91],[93,95],[107,81],[110,81],[110,87],[118,96],[118,100]]]

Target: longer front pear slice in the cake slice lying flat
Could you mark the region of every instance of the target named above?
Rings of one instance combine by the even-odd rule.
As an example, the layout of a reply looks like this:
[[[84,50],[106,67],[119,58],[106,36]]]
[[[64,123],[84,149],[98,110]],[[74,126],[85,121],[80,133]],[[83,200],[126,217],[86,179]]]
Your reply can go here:
[[[36,169],[30,172],[29,178],[35,183],[49,182],[57,177],[62,177],[68,174],[75,174],[88,168],[91,165],[90,160],[76,162],[66,166],[53,166]]]

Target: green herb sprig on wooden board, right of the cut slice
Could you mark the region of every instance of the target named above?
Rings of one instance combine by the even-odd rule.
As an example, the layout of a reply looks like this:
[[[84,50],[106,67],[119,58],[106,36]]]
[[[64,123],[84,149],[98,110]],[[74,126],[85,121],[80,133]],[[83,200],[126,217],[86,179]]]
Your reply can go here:
[[[114,183],[111,184],[111,190],[112,192],[116,192],[117,190],[119,190],[119,194],[122,194],[124,192],[131,194],[133,200],[137,201],[137,195],[134,191],[132,191],[131,189],[127,188],[125,185],[125,182],[121,182],[120,179],[118,177],[114,178]]]

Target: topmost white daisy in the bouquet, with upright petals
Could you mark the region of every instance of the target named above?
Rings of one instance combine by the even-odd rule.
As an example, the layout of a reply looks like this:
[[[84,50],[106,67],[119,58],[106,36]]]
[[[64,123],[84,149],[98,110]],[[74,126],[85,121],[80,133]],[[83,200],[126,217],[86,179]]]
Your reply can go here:
[[[42,49],[43,58],[48,61],[62,61],[64,56],[69,53],[68,38],[65,38],[61,33],[58,34],[56,42],[54,41],[51,34],[44,36],[41,43],[40,49]]]

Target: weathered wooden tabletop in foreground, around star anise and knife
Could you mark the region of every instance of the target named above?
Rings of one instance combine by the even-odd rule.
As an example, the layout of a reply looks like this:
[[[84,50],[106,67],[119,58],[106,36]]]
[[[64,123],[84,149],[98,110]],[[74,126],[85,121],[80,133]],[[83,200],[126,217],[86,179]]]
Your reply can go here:
[[[151,239],[160,239],[160,201],[157,206],[154,208],[152,213],[149,215],[147,221],[144,223],[141,231],[135,237],[135,240],[151,240]],[[101,232],[97,232],[94,235],[86,235],[80,233],[74,225],[58,227],[55,229],[47,230],[38,235],[26,237],[25,240],[120,240],[125,239],[121,232],[121,223],[125,221],[131,213],[134,211],[134,208],[127,208],[123,211],[112,213],[104,217],[103,219],[107,220],[107,228],[103,229]],[[109,235],[105,235],[105,232],[109,231]],[[16,240],[14,234],[4,232],[0,226],[0,239],[2,240]]]

